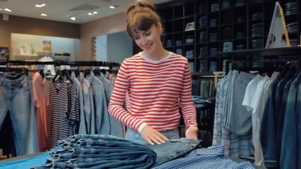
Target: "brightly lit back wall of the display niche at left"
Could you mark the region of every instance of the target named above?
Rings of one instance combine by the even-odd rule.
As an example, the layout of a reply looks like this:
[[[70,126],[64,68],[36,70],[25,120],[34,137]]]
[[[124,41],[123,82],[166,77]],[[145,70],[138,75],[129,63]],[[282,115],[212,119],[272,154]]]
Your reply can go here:
[[[51,42],[51,51],[55,53],[70,53],[70,60],[79,58],[80,40],[26,34],[11,34],[11,56],[20,55],[20,44],[28,43],[34,46],[37,52],[43,51],[43,41]]]

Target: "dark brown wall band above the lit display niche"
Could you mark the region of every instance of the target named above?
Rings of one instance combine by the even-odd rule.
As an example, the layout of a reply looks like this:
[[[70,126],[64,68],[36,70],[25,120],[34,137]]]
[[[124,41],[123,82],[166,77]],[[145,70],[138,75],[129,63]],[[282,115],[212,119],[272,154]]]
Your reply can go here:
[[[80,39],[80,25],[9,15],[9,20],[2,20],[0,14],[0,47],[10,47],[11,33],[43,35]]]

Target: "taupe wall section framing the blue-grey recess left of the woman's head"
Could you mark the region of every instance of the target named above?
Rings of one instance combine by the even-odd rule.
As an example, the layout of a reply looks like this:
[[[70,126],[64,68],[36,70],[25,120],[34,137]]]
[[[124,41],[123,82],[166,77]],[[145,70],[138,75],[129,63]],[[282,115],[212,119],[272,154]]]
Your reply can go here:
[[[81,60],[95,60],[91,56],[93,37],[126,31],[126,15],[116,15],[100,18],[85,24],[81,24]],[[98,52],[98,51],[97,51]]]

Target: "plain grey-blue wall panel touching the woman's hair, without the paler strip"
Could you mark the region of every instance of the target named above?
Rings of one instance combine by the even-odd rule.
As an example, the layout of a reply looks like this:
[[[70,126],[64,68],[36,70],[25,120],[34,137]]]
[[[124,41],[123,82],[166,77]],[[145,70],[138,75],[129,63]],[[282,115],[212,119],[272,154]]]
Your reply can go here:
[[[122,63],[133,55],[133,40],[127,32],[107,35],[107,61]]]

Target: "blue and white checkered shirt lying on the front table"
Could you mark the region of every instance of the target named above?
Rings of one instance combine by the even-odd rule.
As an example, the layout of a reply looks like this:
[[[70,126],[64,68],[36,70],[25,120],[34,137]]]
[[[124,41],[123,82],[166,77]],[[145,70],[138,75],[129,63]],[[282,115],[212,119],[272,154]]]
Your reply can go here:
[[[183,158],[154,169],[254,169],[249,162],[236,163],[224,158],[224,147],[212,146],[192,151]]]

